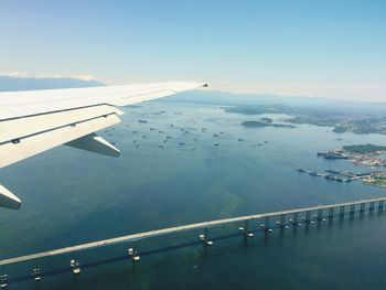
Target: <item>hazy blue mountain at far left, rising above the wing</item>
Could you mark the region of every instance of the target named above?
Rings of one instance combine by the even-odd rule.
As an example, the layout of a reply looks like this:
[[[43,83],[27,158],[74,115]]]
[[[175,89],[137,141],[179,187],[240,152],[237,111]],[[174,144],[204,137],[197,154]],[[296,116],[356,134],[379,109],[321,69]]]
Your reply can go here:
[[[97,87],[105,84],[73,77],[18,77],[0,75],[0,92],[71,87]]]

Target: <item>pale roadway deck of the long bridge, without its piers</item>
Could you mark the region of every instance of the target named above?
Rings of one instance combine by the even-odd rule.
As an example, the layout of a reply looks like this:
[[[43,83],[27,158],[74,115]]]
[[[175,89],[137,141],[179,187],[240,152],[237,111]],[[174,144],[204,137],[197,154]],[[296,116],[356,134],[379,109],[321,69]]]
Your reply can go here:
[[[288,210],[288,211],[281,211],[281,212],[271,212],[271,213],[265,213],[265,214],[245,215],[245,216],[238,216],[238,217],[222,218],[222,219],[215,219],[215,221],[210,221],[210,222],[202,222],[202,223],[195,223],[195,224],[189,224],[189,225],[182,225],[182,226],[168,227],[168,228],[143,232],[143,233],[138,233],[138,234],[132,234],[132,235],[127,235],[127,236],[121,236],[121,237],[116,237],[116,238],[92,241],[92,243],[65,247],[65,248],[61,248],[61,249],[47,250],[47,251],[42,251],[42,253],[37,253],[37,254],[3,259],[3,260],[0,260],[0,266],[15,264],[15,262],[23,262],[23,261],[29,261],[29,260],[35,260],[35,259],[40,259],[40,258],[46,258],[46,257],[52,257],[52,256],[56,256],[56,255],[79,251],[79,250],[86,250],[86,249],[101,247],[101,246],[108,246],[108,245],[112,245],[112,244],[133,241],[133,240],[143,239],[143,238],[160,236],[160,235],[173,234],[173,233],[182,232],[182,230],[190,230],[190,229],[197,229],[197,228],[210,228],[213,226],[232,224],[232,223],[237,223],[237,222],[245,222],[245,221],[257,219],[257,218],[291,215],[291,214],[299,214],[299,213],[304,213],[304,212],[314,212],[314,211],[320,211],[320,210],[323,211],[323,210],[330,210],[330,208],[335,208],[335,207],[342,208],[342,207],[352,206],[352,205],[353,206],[355,206],[355,205],[364,206],[365,204],[372,204],[372,203],[373,203],[373,206],[375,203],[378,203],[379,207],[380,207],[380,205],[383,207],[383,203],[385,201],[386,201],[386,197],[372,198],[372,200],[361,200],[361,201],[355,201],[355,202],[330,204],[330,205],[318,205],[318,206],[312,206],[312,207],[303,207],[303,208]]]

